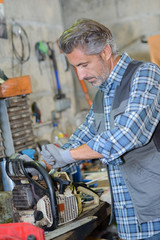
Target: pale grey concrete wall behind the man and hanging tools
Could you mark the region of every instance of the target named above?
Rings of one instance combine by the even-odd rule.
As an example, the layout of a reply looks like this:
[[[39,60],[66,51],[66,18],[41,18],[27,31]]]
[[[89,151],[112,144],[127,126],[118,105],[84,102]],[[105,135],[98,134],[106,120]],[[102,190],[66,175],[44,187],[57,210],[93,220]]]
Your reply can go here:
[[[42,124],[34,123],[37,139],[50,140],[56,84],[49,59],[41,63],[43,74],[40,73],[35,54],[36,42],[54,43],[62,91],[71,99],[71,108],[56,114],[65,129],[75,123],[77,112],[88,109],[88,104],[76,77],[70,70],[64,70],[56,44],[64,28],[71,26],[77,18],[97,20],[112,30],[122,52],[127,51],[131,57],[141,60],[150,59],[148,44],[142,43],[141,37],[160,31],[160,0],[4,0],[4,6],[8,39],[0,38],[0,68],[8,77],[13,77],[11,26],[15,21],[27,32],[31,46],[31,57],[23,65],[22,75],[30,75],[33,89],[29,95],[30,104],[36,101],[42,113]],[[15,41],[18,44],[18,40]],[[14,62],[15,76],[20,76],[20,65],[16,60]],[[88,84],[87,87],[93,99],[96,90]]]

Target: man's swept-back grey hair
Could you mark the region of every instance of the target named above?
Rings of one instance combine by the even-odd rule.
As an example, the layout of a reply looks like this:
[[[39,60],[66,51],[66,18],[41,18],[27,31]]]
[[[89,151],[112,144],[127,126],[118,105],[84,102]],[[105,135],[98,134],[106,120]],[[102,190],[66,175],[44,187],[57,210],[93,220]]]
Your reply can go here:
[[[63,32],[58,40],[62,52],[69,54],[74,48],[82,48],[87,55],[100,54],[106,45],[118,55],[116,43],[111,31],[104,25],[91,20],[79,19],[73,26]]]

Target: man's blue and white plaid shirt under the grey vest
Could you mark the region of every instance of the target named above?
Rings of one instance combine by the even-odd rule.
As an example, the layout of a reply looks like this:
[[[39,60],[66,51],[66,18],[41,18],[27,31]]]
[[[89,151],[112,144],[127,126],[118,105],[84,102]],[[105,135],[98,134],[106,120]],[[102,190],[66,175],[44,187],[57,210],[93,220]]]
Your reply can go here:
[[[120,156],[134,147],[148,143],[160,120],[160,69],[153,63],[140,66],[134,76],[125,114],[115,119],[115,128],[110,130],[110,111],[115,89],[120,84],[131,60],[124,53],[107,82],[100,86],[104,91],[106,131],[95,134],[93,128],[95,118],[91,106],[85,122],[74,132],[63,148],[72,149],[87,143],[90,148],[104,156],[100,160],[103,164],[109,165],[119,236],[122,239],[137,240],[159,233],[160,219],[139,224],[119,169],[122,163]]]

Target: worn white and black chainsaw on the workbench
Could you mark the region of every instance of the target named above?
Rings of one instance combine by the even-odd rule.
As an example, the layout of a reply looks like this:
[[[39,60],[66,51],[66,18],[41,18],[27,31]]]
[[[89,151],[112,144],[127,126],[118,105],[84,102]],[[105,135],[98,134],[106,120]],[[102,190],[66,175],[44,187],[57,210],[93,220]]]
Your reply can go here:
[[[41,179],[31,177],[27,168],[36,169]],[[78,202],[69,178],[53,177],[38,162],[22,159],[8,159],[6,172],[15,183],[11,199],[14,222],[53,231],[78,217]]]

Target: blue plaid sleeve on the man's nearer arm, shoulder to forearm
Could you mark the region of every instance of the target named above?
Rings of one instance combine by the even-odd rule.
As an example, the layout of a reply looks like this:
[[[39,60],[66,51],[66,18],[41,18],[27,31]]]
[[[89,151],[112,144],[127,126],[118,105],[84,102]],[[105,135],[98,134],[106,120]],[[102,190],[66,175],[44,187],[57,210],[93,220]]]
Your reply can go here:
[[[152,63],[141,66],[133,79],[124,113],[115,118],[112,130],[96,135],[88,146],[112,163],[125,152],[149,142],[160,120],[160,69]]]

